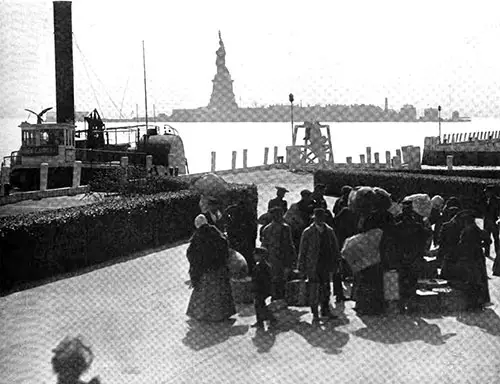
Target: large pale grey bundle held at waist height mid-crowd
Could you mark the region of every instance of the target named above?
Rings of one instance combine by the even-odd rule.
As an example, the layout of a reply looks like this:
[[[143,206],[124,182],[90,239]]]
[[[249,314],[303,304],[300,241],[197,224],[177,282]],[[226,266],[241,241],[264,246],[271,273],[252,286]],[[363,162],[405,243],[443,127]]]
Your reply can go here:
[[[347,260],[354,273],[380,263],[381,229],[349,237],[342,248],[342,257]]]

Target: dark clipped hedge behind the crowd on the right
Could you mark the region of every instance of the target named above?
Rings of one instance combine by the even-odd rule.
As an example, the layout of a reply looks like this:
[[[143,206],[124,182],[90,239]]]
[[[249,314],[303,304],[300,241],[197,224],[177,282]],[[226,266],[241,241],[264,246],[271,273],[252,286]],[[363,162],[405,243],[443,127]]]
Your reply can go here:
[[[427,193],[431,197],[440,195],[445,199],[456,196],[465,208],[471,209],[480,209],[483,189],[487,184],[496,185],[500,191],[498,179],[360,170],[316,171],[314,183],[325,184],[329,196],[340,196],[343,185],[378,186],[391,193],[394,200],[415,193]]]

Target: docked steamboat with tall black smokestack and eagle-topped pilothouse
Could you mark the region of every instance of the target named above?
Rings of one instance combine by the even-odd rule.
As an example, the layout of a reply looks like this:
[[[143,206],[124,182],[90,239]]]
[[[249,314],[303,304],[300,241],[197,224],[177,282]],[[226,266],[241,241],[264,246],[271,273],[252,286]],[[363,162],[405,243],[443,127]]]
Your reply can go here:
[[[56,122],[43,122],[42,113],[37,123],[26,121],[21,128],[21,147],[3,159],[2,167],[10,167],[10,185],[21,190],[40,187],[40,167],[49,167],[48,188],[72,185],[75,161],[81,161],[81,184],[95,175],[96,169],[120,165],[127,156],[130,164],[146,166],[146,156],[152,155],[153,164],[187,173],[184,144],[177,130],[165,126],[144,125],[106,128],[97,110],[85,116],[85,129],[75,125],[73,86],[72,10],[70,1],[54,1],[54,42],[56,73]],[[147,100],[147,99],[146,99]],[[146,101],[147,102],[147,101]],[[30,111],[32,112],[32,111]],[[147,121],[147,120],[146,120]],[[135,129],[135,143],[110,144],[109,133]]]

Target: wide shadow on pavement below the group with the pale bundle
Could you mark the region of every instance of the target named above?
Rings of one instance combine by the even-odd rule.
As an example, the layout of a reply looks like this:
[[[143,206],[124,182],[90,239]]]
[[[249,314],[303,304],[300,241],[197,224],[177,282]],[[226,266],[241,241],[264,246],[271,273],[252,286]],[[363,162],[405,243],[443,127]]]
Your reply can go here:
[[[366,327],[354,334],[364,339],[385,344],[422,340],[431,345],[443,345],[456,333],[442,334],[436,324],[429,324],[419,316],[360,316]]]

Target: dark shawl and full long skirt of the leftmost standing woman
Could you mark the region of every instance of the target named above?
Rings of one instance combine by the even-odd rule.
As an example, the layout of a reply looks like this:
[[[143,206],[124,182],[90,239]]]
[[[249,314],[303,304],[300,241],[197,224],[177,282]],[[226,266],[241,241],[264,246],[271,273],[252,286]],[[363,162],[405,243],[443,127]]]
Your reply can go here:
[[[200,227],[187,250],[193,292],[186,314],[196,320],[224,321],[236,313],[227,268],[228,244],[212,225]]]

